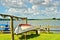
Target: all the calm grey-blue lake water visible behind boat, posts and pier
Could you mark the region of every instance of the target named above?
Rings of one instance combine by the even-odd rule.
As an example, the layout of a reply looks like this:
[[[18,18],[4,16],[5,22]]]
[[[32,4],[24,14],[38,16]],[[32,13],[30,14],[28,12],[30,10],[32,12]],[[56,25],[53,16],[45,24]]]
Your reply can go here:
[[[0,21],[0,24],[8,23],[10,25],[10,21]],[[14,21],[14,28],[18,26],[18,24],[26,23],[25,20]],[[33,26],[60,26],[60,20],[28,20],[28,24]],[[60,28],[51,28],[51,30],[60,30]],[[60,31],[52,31],[54,33],[60,33]]]

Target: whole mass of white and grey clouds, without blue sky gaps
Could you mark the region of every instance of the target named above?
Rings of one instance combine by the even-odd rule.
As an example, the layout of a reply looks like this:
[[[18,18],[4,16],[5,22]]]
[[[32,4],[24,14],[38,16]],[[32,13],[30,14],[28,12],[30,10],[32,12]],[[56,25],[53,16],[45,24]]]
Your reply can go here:
[[[56,16],[60,12],[57,11],[57,7],[59,6],[58,1],[53,2],[52,0],[26,0],[30,4],[32,4],[32,8],[29,8],[26,5],[25,0],[1,0],[2,5],[10,7],[7,10],[7,14],[10,15],[20,15],[20,16],[36,16],[42,15],[43,17],[48,16]],[[40,7],[44,7],[45,10],[39,9]]]

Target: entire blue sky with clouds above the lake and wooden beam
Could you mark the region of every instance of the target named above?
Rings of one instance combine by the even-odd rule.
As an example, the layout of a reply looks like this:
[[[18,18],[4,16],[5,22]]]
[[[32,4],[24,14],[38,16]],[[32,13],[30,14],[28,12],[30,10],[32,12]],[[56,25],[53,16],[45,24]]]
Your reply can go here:
[[[60,0],[0,0],[0,14],[28,19],[60,18]]]

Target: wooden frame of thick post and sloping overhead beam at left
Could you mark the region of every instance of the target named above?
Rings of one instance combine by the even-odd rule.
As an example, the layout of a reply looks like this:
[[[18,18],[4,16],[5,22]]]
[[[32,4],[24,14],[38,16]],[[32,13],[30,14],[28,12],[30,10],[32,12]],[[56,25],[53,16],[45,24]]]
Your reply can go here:
[[[18,19],[26,20],[26,24],[27,24],[27,18],[25,18],[25,17],[22,18],[22,17],[12,16],[12,15],[6,15],[6,14],[0,14],[0,16],[3,17],[3,18],[10,17],[11,40],[14,40],[13,18],[16,18],[16,20],[18,20]]]

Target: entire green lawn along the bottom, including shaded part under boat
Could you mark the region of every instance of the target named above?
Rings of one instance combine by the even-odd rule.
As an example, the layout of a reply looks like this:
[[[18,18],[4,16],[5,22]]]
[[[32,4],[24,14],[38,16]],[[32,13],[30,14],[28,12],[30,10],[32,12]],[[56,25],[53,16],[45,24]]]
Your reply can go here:
[[[15,40],[21,40],[23,36],[14,36]],[[20,38],[20,39],[19,39]],[[0,40],[11,40],[10,34],[0,34]],[[27,35],[27,40],[60,40],[60,34]]]

